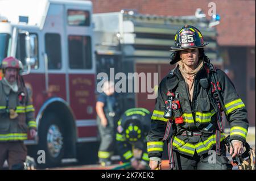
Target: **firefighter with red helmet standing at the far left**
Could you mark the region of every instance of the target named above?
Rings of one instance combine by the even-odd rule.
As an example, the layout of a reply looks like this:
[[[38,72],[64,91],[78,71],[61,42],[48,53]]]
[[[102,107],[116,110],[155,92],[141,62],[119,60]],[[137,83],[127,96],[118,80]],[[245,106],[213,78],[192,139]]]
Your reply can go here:
[[[20,75],[22,64],[14,57],[2,61],[0,81],[0,169],[5,160],[9,169],[24,169],[27,148],[23,141],[36,136],[34,107]]]

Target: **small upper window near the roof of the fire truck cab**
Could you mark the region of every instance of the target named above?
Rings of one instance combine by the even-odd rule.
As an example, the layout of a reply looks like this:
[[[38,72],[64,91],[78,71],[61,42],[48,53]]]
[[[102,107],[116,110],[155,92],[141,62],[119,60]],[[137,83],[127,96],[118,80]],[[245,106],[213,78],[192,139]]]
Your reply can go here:
[[[89,11],[68,10],[68,25],[70,25],[70,26],[90,26]]]

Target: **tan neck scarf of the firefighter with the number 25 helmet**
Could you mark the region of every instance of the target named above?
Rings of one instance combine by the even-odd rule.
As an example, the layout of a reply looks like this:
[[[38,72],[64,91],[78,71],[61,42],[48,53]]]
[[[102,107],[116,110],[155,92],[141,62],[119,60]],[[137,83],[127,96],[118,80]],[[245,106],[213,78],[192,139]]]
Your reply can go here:
[[[185,82],[187,83],[189,98],[192,101],[195,76],[196,76],[197,72],[199,72],[199,70],[202,68],[203,60],[199,60],[197,66],[196,66],[196,69],[194,69],[192,71],[187,70],[182,61],[178,61],[177,64],[179,65],[181,75],[183,75]]]

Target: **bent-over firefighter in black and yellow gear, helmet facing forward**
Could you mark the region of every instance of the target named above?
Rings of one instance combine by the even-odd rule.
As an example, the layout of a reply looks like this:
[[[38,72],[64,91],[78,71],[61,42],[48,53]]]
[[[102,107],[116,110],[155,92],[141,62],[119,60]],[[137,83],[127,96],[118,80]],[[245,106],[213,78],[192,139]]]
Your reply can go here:
[[[118,121],[117,150],[122,162],[130,162],[133,169],[147,168],[146,135],[150,130],[150,118],[151,113],[145,108],[131,108]]]

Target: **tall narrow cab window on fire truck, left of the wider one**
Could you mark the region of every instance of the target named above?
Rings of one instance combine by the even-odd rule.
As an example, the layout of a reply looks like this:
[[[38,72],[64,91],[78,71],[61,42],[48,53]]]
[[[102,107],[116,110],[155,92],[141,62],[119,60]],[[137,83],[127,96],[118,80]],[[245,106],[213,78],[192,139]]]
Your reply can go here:
[[[61,42],[57,33],[46,33],[46,53],[48,56],[48,69],[61,69]]]

